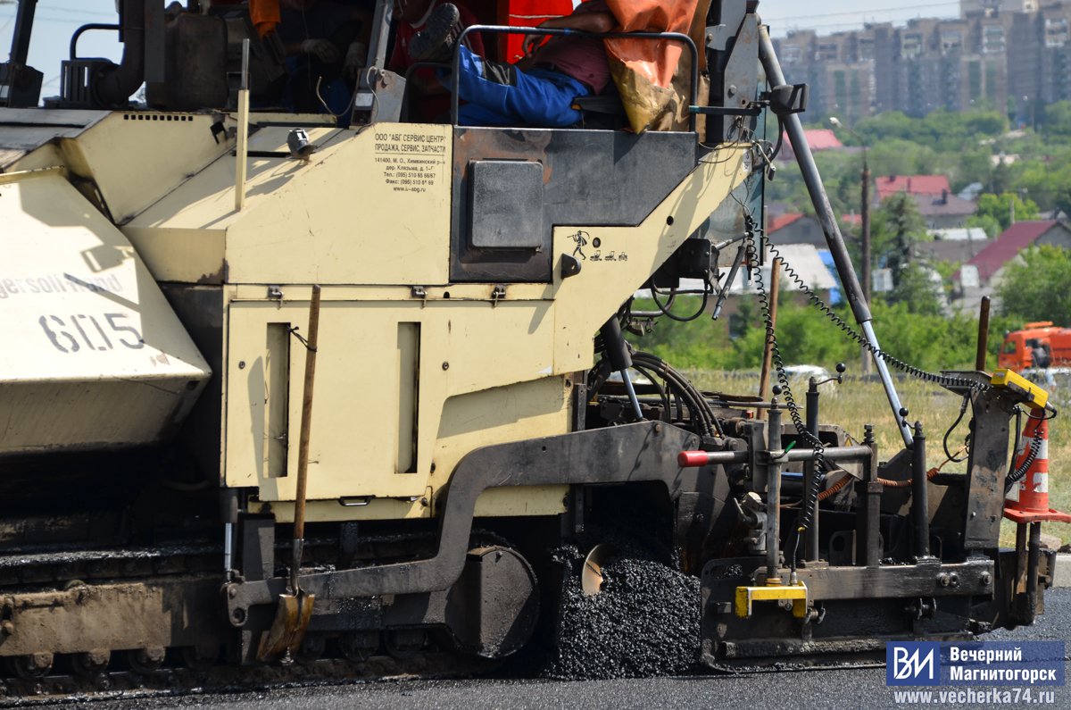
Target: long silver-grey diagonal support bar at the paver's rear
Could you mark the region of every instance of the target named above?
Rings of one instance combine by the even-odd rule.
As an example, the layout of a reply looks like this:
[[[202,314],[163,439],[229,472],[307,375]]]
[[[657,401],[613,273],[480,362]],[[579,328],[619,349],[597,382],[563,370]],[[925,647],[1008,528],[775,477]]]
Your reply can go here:
[[[765,25],[759,25],[758,36],[758,57],[763,62],[763,69],[766,70],[767,80],[770,83],[770,86],[786,84],[785,75],[781,71],[781,64],[773,53],[773,42],[770,41],[770,33]],[[841,277],[841,283],[844,285],[844,295],[847,297],[848,304],[851,306],[851,313],[856,316],[856,322],[862,328],[863,336],[870,344],[870,351],[874,355],[874,366],[881,378],[883,386],[885,386],[885,395],[889,399],[889,405],[892,406],[892,415],[896,421],[896,426],[900,428],[900,435],[903,437],[904,444],[910,448],[912,441],[911,430],[907,426],[906,417],[900,413],[903,404],[900,402],[900,395],[896,394],[896,387],[893,385],[892,376],[889,374],[889,367],[877,355],[880,352],[880,347],[877,342],[877,336],[874,335],[874,327],[871,324],[873,316],[870,312],[870,306],[866,304],[863,290],[859,285],[856,270],[851,266],[851,257],[848,256],[848,250],[844,246],[844,237],[841,235],[841,228],[836,225],[836,218],[833,216],[833,208],[830,206],[829,197],[826,195],[826,188],[821,183],[821,176],[818,175],[818,166],[815,165],[814,156],[811,154],[811,147],[808,146],[806,138],[803,135],[803,124],[800,122],[798,114],[788,114],[785,116],[784,124],[785,133],[788,134],[788,142],[796,153],[796,161],[799,163],[800,173],[803,174],[803,182],[806,183],[808,192],[811,194],[811,203],[814,205],[814,211],[818,217],[818,222],[821,224],[821,231],[826,233],[826,243],[829,245],[829,251],[833,255],[833,264],[836,266],[836,273]]]

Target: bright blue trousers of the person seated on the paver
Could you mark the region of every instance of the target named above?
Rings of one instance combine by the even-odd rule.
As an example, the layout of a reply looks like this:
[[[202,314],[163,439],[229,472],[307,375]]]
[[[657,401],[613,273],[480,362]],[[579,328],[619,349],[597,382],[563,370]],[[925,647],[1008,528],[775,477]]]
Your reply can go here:
[[[571,76],[546,69],[522,72],[487,62],[468,47],[458,49],[457,95],[462,125],[544,125],[565,128],[580,121],[573,100],[591,89]],[[491,71],[488,72],[488,65]]]

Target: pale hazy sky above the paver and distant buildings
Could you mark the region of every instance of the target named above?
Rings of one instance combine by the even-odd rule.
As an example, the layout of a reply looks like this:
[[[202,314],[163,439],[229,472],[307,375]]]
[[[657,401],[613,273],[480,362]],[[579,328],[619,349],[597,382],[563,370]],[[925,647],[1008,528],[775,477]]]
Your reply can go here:
[[[11,51],[15,9],[15,0],[0,0],[0,60],[6,60]],[[912,17],[953,17],[959,10],[957,0],[934,0],[929,4],[919,0],[760,0],[758,5],[763,21],[774,36],[793,29],[839,32],[858,29],[864,21],[902,24]],[[29,63],[45,75],[42,95],[59,93],[60,60],[67,56],[74,30],[87,23],[116,19],[115,0],[39,0]],[[90,31],[78,44],[81,57],[117,60],[121,54],[115,32]]]

